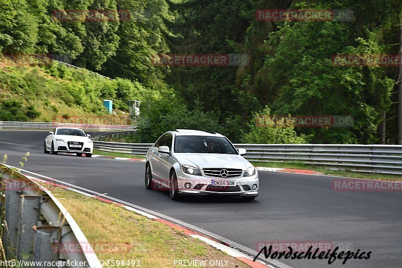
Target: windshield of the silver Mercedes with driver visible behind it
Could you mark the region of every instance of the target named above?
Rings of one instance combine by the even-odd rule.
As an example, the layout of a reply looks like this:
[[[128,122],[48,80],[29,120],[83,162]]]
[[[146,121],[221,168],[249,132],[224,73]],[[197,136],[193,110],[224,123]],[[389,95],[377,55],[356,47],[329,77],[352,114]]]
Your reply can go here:
[[[238,154],[226,138],[208,136],[176,136],[174,152]]]

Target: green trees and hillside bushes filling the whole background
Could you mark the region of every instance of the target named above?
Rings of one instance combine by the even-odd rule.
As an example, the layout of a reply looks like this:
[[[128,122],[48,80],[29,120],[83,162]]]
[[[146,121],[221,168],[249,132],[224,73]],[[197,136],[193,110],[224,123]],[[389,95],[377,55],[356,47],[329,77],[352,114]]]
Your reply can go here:
[[[259,9],[350,9],[354,18],[263,22],[255,18]],[[85,21],[54,16],[69,10],[129,11],[130,17]],[[62,110],[70,108],[103,114],[103,99],[113,99],[123,111],[137,99],[143,102],[141,141],[173,127],[205,126],[235,142],[247,133],[254,133],[251,140],[262,135],[267,142],[273,130],[247,122],[267,113],[268,105],[275,115],[354,118],[349,128],[297,128],[284,132],[285,137],[295,131],[317,143],[376,143],[385,114],[387,142],[395,143],[397,66],[335,66],[332,57],[397,54],[401,17],[398,0],[3,0],[0,52],[66,55],[74,65],[116,79],[94,78],[58,64],[2,69],[0,114],[20,120],[67,114]],[[161,53],[243,54],[249,63],[155,66],[151,58]],[[6,108],[5,96],[22,96],[20,107]],[[43,109],[36,107],[38,100]]]

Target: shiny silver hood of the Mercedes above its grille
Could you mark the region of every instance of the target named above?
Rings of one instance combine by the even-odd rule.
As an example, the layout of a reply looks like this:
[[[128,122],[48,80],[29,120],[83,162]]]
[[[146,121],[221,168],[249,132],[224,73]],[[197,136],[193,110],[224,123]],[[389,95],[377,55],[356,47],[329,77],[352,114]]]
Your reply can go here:
[[[238,154],[218,153],[178,153],[176,159],[181,164],[192,165],[199,168],[227,167],[246,169],[251,163]]]

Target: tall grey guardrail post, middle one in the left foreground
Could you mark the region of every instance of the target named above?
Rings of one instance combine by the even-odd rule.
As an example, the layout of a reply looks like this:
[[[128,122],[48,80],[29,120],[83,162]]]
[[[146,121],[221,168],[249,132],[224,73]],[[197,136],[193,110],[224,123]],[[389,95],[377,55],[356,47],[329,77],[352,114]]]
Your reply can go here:
[[[33,260],[35,231],[32,227],[38,224],[39,206],[40,197],[21,195],[17,237],[18,259]]]

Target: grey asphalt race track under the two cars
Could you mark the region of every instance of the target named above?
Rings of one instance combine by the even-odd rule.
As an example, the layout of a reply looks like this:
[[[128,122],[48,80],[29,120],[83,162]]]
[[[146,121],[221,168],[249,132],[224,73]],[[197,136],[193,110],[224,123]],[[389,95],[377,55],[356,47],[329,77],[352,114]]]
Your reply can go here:
[[[93,132],[88,132],[96,135]],[[99,133],[99,132],[98,132]],[[144,162],[43,153],[45,131],[0,131],[0,157],[47,175],[145,207],[257,250],[261,241],[330,242],[346,250],[371,251],[369,259],[279,261],[293,267],[401,267],[402,192],[336,192],[334,177],[259,171],[260,196],[185,198],[144,186]],[[345,251],[346,251],[345,250]]]

